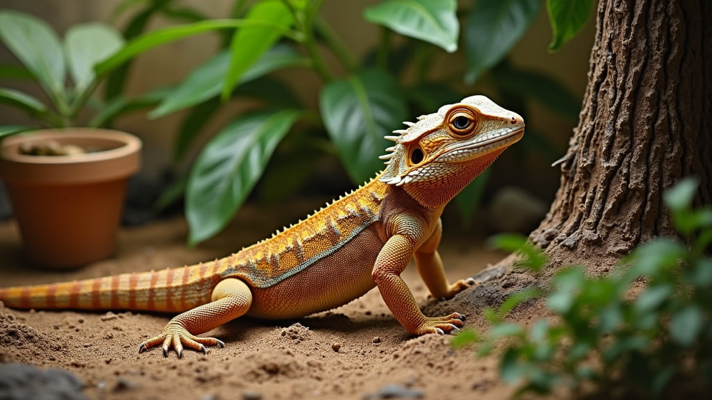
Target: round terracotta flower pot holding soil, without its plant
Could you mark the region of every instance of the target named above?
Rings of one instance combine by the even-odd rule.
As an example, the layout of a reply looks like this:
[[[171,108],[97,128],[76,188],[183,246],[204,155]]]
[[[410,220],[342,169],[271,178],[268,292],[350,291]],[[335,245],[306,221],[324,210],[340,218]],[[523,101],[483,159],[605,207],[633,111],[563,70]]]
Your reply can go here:
[[[23,143],[46,140],[88,152],[19,153]],[[113,255],[126,182],[139,168],[140,149],[135,136],[89,128],[42,130],[1,142],[0,176],[31,263],[75,268]]]

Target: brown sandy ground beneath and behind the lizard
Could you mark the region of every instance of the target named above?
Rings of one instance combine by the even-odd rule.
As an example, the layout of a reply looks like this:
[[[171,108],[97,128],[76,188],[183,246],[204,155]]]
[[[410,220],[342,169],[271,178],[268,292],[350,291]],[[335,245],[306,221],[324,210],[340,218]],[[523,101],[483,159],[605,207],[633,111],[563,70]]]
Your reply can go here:
[[[194,249],[184,244],[187,228],[182,219],[125,228],[117,258],[66,273],[25,265],[14,223],[0,223],[0,285],[212,260],[268,236],[292,221],[293,213],[248,206],[226,233]],[[264,216],[274,222],[266,222]],[[445,229],[441,256],[450,280],[474,275],[501,260],[501,253],[487,251],[471,235]],[[429,300],[415,268],[408,268],[403,277],[429,313],[481,315],[478,309],[453,309],[457,298]],[[120,310],[0,307],[0,374],[7,374],[12,362],[63,369],[78,377],[83,394],[91,399],[503,399],[513,393],[496,379],[494,359],[476,359],[473,349],[455,351],[448,336],[414,337],[405,332],[377,290],[299,320],[239,318],[204,334],[226,342],[225,348],[212,348],[206,355],[186,351],[182,359],[174,353],[165,359],[160,349],[139,354],[138,344],[160,332],[170,317]],[[476,320],[469,320],[469,325]]]

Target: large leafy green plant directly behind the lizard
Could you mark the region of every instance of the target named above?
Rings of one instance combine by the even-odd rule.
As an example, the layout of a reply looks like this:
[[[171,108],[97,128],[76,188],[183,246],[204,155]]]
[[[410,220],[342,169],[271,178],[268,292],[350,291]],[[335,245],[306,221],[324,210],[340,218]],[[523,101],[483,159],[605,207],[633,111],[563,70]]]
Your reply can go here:
[[[214,21],[205,20],[199,11],[174,3],[171,0],[127,1],[121,11],[139,4],[130,18],[132,33],[142,30],[148,19],[157,15],[192,21],[189,25]],[[565,4],[565,1],[548,0],[548,3]],[[323,0],[235,1],[232,21],[244,21],[246,26],[235,29],[229,37],[224,36],[218,53],[195,68],[172,90],[172,95],[166,96],[151,112],[152,117],[161,117],[190,109],[177,135],[176,165],[186,163],[187,149],[194,146],[211,116],[228,98],[257,99],[264,105],[239,115],[236,120],[247,118],[255,122],[255,115],[272,115],[261,112],[262,109],[281,110],[284,112],[277,115],[290,116],[284,122],[289,122],[286,131],[291,133],[279,135],[282,142],[278,147],[255,150],[261,152],[259,158],[264,163],[250,165],[241,158],[250,152],[234,152],[233,157],[226,159],[223,154],[219,159],[235,168],[211,169],[209,165],[215,164],[209,157],[210,149],[215,149],[211,142],[229,135],[226,132],[234,126],[234,122],[229,122],[206,144],[186,174],[187,178],[164,196],[162,203],[167,204],[185,188],[189,243],[203,241],[226,225],[256,181],[263,177],[266,160],[275,151],[281,151],[279,158],[288,159],[289,164],[276,162],[271,168],[275,174],[288,172],[291,182],[305,179],[309,172],[314,157],[305,156],[305,152],[324,151],[335,152],[340,157],[355,184],[370,179],[382,168],[377,157],[388,147],[383,137],[397,129],[409,115],[432,112],[443,104],[460,100],[461,92],[469,91],[463,90],[463,80],[472,84],[487,78],[498,89],[499,100],[515,103],[519,111],[524,111],[524,100],[531,99],[562,112],[571,120],[577,118],[580,101],[572,98],[556,80],[535,71],[514,68],[506,62],[507,53],[533,21],[542,0],[473,1],[459,10],[454,0],[381,1],[363,12],[367,21],[381,26],[381,40],[362,60],[351,53],[319,15],[322,4]],[[587,13],[585,9],[577,11]],[[552,20],[553,24],[560,23],[558,15],[569,16],[552,15],[557,18]],[[404,38],[394,41],[392,32]],[[150,32],[143,36],[151,35]],[[448,78],[434,78],[431,69],[436,58],[456,51],[459,42],[464,43],[466,69]],[[331,53],[338,65],[325,63],[324,53]],[[320,78],[318,113],[295,99],[290,81],[285,80],[284,75],[281,80],[268,76],[295,67],[311,70]],[[486,74],[487,70],[492,73]],[[292,118],[295,112],[298,117]],[[295,125],[298,121],[300,123]],[[268,135],[263,125],[255,125],[255,129],[262,132],[261,135]],[[547,147],[536,132],[530,132],[526,140],[540,148]],[[269,174],[263,179],[276,181]],[[200,200],[204,199],[206,181],[219,180],[239,184],[231,186],[230,191],[214,193],[218,198],[212,199],[211,204],[221,206],[206,206]],[[283,177],[280,180],[283,181]],[[457,203],[464,212],[464,219],[471,218],[473,204],[481,196],[485,182],[486,175],[459,196]],[[294,185],[282,183],[281,186]]]

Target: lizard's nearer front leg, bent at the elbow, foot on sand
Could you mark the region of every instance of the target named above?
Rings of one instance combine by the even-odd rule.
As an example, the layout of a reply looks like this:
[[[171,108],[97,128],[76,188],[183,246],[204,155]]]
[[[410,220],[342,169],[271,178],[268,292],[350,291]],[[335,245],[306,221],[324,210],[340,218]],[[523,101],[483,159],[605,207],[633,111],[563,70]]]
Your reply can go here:
[[[457,332],[464,315],[454,313],[445,317],[426,317],[418,307],[413,293],[400,277],[413,255],[415,241],[404,235],[394,235],[381,249],[372,271],[381,297],[396,320],[414,335]]]

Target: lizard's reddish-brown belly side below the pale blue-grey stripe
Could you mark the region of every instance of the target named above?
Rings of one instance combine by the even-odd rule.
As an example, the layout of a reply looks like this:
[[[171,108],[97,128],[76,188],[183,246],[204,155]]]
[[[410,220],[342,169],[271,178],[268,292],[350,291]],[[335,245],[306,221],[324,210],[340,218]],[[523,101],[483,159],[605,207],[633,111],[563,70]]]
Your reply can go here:
[[[269,319],[303,317],[330,310],[375,287],[371,271],[383,241],[366,229],[338,251],[269,288],[253,288],[248,315]]]

